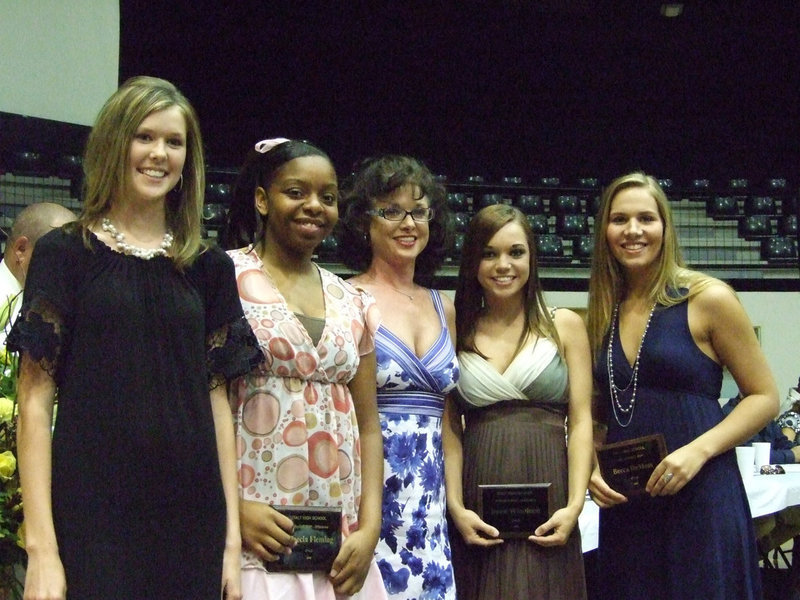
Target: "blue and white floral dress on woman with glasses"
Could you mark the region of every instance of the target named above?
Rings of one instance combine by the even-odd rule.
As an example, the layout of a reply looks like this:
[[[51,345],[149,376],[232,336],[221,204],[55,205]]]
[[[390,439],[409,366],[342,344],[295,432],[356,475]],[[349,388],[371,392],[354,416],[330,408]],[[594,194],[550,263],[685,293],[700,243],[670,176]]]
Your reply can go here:
[[[375,553],[392,600],[455,600],[445,520],[442,412],[458,380],[439,293],[441,333],[422,358],[381,326],[375,336],[383,431],[383,524]]]

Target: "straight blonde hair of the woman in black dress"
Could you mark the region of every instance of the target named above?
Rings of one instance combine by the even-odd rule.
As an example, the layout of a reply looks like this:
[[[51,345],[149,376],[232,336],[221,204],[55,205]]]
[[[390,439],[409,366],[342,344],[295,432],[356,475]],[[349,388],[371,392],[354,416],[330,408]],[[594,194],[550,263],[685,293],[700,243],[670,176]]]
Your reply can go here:
[[[200,125],[192,105],[169,81],[156,77],[128,79],[106,101],[86,143],[83,160],[83,212],[78,219],[84,242],[88,230],[111,208],[127,185],[131,140],[148,115],[177,106],[186,121],[186,161],[182,183],[167,194],[167,227],[174,242],[172,259],[179,268],[202,251],[201,218],[205,164]]]

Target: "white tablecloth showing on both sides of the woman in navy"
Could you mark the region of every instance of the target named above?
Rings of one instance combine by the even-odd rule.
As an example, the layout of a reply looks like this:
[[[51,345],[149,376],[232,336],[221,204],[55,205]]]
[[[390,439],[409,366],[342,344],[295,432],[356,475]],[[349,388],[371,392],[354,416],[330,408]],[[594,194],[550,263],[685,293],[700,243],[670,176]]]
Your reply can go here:
[[[744,487],[753,517],[768,515],[787,506],[800,504],[800,465],[784,465],[784,468],[787,469],[784,475],[753,475],[752,479],[745,482]],[[597,548],[599,519],[600,508],[587,497],[578,519],[584,552]]]

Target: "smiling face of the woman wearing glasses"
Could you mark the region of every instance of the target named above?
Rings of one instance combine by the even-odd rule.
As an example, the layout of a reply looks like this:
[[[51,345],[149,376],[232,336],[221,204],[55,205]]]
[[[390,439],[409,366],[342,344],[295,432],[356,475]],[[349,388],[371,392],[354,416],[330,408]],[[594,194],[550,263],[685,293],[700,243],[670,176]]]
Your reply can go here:
[[[405,184],[374,203],[375,209],[396,207],[403,211],[415,208],[429,208],[426,196],[420,194],[417,186]],[[392,262],[396,259],[416,260],[428,245],[430,227],[426,221],[415,221],[406,214],[401,221],[390,221],[374,215],[369,226],[372,242],[372,255],[375,258]]]

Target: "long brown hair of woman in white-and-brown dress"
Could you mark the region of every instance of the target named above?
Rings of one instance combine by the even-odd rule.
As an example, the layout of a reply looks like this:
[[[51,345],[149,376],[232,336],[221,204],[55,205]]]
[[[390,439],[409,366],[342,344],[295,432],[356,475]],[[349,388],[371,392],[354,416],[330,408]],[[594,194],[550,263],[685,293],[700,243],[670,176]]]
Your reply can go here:
[[[472,218],[464,237],[464,250],[461,255],[461,266],[458,270],[456,287],[456,331],[458,332],[458,350],[481,352],[475,346],[475,326],[484,312],[483,289],[478,283],[478,267],[483,257],[483,250],[500,229],[509,223],[517,223],[525,233],[530,258],[530,275],[523,298],[525,326],[520,334],[517,352],[522,349],[528,336],[536,335],[552,339],[561,348],[558,333],[553,319],[547,310],[539,284],[539,272],[536,265],[536,240],[533,237],[528,220],[519,209],[505,204],[487,206]],[[484,358],[486,358],[484,356]]]

